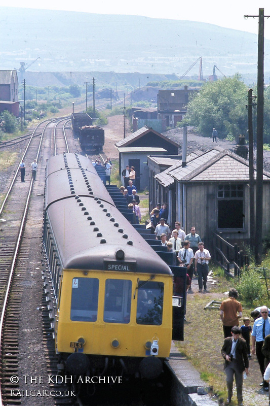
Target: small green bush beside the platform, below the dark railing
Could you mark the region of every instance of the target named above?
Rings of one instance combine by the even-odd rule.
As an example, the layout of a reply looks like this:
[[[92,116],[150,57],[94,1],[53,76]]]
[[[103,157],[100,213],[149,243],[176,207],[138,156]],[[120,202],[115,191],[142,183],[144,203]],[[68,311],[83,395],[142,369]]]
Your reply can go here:
[[[263,274],[258,269],[244,270],[236,289],[241,299],[254,306],[257,302],[263,302],[263,298],[267,295]]]

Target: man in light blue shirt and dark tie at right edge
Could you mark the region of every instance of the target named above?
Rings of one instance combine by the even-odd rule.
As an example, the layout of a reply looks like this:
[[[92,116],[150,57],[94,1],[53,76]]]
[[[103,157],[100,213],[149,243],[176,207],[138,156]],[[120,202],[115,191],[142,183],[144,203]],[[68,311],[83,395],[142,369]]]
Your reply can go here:
[[[270,334],[270,317],[268,317],[268,308],[267,306],[262,306],[261,308],[261,317],[255,320],[253,325],[253,330],[251,333],[252,339],[252,354],[255,354],[256,348],[256,356],[259,362],[260,371],[263,379],[263,374],[265,370],[264,366],[264,358],[261,349],[263,346],[264,339],[266,335]],[[263,380],[261,386],[265,391],[268,391],[268,383]]]

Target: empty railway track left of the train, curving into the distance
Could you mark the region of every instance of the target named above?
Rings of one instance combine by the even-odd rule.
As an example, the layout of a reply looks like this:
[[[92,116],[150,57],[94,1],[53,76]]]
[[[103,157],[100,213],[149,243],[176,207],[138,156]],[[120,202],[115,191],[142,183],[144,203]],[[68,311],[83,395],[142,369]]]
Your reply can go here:
[[[63,122],[63,119],[60,121]],[[67,120],[65,119],[64,126],[66,121]],[[41,173],[40,177],[42,177],[42,173],[44,172],[46,159],[50,155],[51,127],[54,126],[54,128],[57,128],[58,125],[59,120],[57,120],[56,124],[52,124],[52,120],[40,123],[31,134],[27,147],[23,153],[22,158],[28,163],[32,162],[34,158],[37,159],[38,172]],[[38,135],[37,131],[39,130],[42,130],[42,132],[39,132]],[[68,148],[66,139],[63,146],[60,145],[60,138],[60,134],[57,134],[56,140],[59,144],[59,152],[61,148],[65,148],[65,150]],[[45,141],[44,143],[43,140]],[[20,404],[22,401],[20,396],[21,393],[18,393],[20,384],[17,382],[16,378],[20,375],[18,369],[18,358],[20,358],[19,321],[21,317],[21,301],[23,300],[22,292],[25,288],[24,284],[27,283],[25,280],[29,277],[29,275],[27,275],[27,269],[29,268],[29,253],[32,246],[32,229],[29,229],[28,236],[27,231],[26,234],[24,234],[24,238],[22,238],[22,236],[29,210],[30,196],[31,193],[33,193],[33,190],[40,189],[40,193],[37,195],[40,196],[39,200],[43,207],[44,177],[42,182],[38,182],[37,177],[37,181],[34,183],[33,180],[30,179],[28,173],[25,178],[26,182],[22,183],[18,174],[19,165],[0,208],[0,309],[2,316],[0,321],[0,346],[2,348],[0,405],[15,405]],[[40,213],[42,213],[42,207]],[[38,238],[41,241],[41,233]],[[43,314],[42,318],[45,319],[45,314]],[[46,323],[44,326],[46,327]],[[26,330],[31,331],[33,329],[29,328]],[[48,334],[48,330],[45,330],[44,337],[48,338]],[[28,374],[28,371],[26,371],[25,374]],[[65,399],[65,401],[66,400],[67,399]]]

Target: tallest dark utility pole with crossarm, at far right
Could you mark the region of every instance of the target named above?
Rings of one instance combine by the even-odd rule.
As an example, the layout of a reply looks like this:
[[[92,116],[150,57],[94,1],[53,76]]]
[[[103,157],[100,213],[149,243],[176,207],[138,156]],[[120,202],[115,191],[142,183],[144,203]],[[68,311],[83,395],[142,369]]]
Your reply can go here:
[[[258,32],[258,73],[257,73],[257,171],[256,171],[256,226],[255,226],[255,263],[261,263],[262,253],[262,193],[263,193],[263,52],[264,52],[264,9],[259,9]],[[251,230],[252,232],[253,230]]]

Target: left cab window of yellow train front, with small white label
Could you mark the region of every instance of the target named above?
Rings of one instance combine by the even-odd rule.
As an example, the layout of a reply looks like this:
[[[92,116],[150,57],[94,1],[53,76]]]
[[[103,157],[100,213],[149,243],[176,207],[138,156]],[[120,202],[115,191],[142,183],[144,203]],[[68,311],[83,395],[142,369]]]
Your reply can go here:
[[[96,321],[99,280],[97,278],[73,278],[70,319]]]

